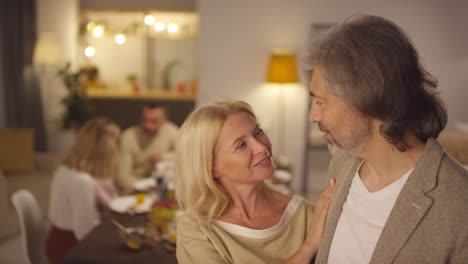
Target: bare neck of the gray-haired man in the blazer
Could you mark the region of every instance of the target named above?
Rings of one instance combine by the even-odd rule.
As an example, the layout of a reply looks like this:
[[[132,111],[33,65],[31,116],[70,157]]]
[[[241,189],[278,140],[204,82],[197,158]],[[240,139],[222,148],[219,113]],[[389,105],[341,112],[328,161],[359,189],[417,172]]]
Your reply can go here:
[[[402,152],[378,133],[369,139],[360,155],[364,164],[359,176],[370,192],[387,187],[414,168],[425,143],[410,133],[405,134],[404,140],[409,148]]]

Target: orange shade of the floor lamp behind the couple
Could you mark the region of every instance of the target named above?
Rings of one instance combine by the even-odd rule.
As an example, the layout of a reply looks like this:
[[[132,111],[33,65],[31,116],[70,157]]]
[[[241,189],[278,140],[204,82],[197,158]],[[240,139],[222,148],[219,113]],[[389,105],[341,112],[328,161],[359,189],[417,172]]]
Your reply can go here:
[[[296,56],[289,51],[273,51],[268,66],[267,82],[297,82]]]

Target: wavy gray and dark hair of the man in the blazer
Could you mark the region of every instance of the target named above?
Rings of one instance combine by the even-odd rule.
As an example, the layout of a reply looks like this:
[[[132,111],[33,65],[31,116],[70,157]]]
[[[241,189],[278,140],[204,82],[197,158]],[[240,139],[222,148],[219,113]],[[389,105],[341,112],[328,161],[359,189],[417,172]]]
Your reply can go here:
[[[381,120],[381,134],[399,150],[405,132],[422,141],[444,129],[447,112],[437,80],[422,66],[413,43],[388,19],[353,15],[319,35],[300,61],[310,84],[314,67],[327,91],[365,116]]]

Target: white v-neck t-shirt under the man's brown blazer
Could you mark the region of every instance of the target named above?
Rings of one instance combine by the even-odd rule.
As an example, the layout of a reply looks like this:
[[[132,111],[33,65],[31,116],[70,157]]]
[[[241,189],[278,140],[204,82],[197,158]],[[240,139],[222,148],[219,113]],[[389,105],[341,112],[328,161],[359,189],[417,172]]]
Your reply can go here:
[[[393,205],[411,169],[398,180],[369,192],[356,172],[330,247],[328,263],[369,263]]]

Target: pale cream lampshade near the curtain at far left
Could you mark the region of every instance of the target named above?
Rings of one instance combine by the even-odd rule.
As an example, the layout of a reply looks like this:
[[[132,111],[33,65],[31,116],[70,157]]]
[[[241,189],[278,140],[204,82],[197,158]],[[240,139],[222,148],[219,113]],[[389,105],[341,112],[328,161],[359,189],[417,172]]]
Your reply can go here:
[[[60,46],[54,33],[40,33],[34,48],[34,64],[58,64],[61,59]]]

